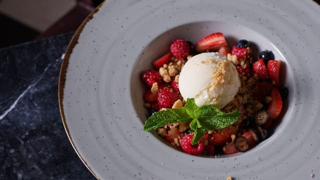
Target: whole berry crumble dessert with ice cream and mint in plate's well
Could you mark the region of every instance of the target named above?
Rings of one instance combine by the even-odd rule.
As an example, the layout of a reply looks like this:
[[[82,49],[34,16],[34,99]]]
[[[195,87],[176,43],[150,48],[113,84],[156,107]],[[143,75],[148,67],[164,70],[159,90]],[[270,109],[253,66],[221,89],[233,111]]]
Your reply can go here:
[[[232,25],[245,33],[232,31]],[[209,32],[208,26],[220,31]],[[143,129],[155,129],[162,141],[189,154],[224,156],[253,148],[272,135],[285,113],[286,61],[274,47],[259,33],[224,22],[195,22],[163,33],[136,66],[144,86],[140,105],[147,109],[138,108]],[[162,53],[149,54],[156,50]],[[189,107],[205,109],[205,118]]]

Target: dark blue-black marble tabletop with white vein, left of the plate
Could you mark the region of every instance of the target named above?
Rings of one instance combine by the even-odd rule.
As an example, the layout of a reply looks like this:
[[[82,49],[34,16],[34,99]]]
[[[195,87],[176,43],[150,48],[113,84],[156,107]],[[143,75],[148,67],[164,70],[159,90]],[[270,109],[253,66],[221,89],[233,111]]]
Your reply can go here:
[[[0,179],[95,179],[73,150],[58,106],[73,32],[0,49]]]

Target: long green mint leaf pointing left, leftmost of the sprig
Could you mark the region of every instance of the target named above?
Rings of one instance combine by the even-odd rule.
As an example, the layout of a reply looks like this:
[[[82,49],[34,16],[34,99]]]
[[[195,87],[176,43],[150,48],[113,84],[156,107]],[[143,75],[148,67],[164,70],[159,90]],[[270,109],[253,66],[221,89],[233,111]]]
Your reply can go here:
[[[145,122],[143,130],[148,131],[162,127],[165,124],[188,122],[192,118],[186,113],[185,108],[174,108],[157,111],[152,114]]]

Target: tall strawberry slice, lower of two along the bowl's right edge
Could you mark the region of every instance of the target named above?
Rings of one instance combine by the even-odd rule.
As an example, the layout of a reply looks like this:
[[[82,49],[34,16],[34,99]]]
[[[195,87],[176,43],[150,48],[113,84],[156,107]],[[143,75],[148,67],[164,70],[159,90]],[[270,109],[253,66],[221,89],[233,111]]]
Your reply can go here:
[[[270,118],[275,120],[279,116],[282,109],[281,95],[278,89],[275,87],[272,87],[271,98],[272,100],[270,101],[266,111],[269,113]]]

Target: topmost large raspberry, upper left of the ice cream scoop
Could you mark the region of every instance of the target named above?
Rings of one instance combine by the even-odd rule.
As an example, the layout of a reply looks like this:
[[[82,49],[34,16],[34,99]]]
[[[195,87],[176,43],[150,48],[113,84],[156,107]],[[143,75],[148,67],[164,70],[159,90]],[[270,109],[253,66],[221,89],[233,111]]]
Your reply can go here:
[[[170,45],[170,51],[174,57],[184,58],[190,53],[190,46],[187,41],[183,39],[176,39]]]

